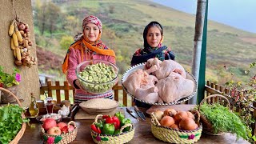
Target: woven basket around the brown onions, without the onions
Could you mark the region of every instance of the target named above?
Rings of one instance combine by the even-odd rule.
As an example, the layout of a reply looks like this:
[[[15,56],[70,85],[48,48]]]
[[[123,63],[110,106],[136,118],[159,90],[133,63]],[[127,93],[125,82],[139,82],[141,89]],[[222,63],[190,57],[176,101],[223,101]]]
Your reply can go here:
[[[200,114],[197,113],[196,123],[199,126]],[[177,130],[161,126],[154,112],[151,114],[151,132],[155,138],[170,143],[194,143],[199,140],[202,134],[202,125],[195,130]]]

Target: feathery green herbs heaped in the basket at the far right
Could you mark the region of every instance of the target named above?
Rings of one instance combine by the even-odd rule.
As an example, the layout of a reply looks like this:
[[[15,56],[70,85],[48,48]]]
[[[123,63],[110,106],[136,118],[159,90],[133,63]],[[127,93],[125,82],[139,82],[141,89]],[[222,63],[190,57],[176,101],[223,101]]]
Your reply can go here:
[[[201,113],[206,116],[207,120],[214,127],[214,132],[230,132],[237,134],[238,138],[247,139],[247,131],[245,123],[230,108],[214,103],[212,105],[203,103],[200,107]]]

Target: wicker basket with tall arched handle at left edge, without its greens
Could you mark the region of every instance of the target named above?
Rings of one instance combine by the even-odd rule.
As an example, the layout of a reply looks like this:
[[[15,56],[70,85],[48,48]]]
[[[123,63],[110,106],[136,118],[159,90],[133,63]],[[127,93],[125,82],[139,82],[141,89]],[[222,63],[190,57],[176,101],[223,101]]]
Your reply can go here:
[[[18,98],[12,93],[10,92],[10,90],[6,90],[5,88],[0,87],[0,94],[1,94],[1,90],[5,91],[6,93],[10,94],[12,97],[14,97],[16,99],[16,101],[18,102],[18,106],[22,106],[21,102],[19,102]],[[22,118],[26,118],[24,114],[22,114]],[[26,122],[22,123],[22,128],[21,130],[19,130],[18,134],[16,135],[16,137],[10,142],[10,144],[17,144],[18,141],[22,138],[24,132],[26,130]]]

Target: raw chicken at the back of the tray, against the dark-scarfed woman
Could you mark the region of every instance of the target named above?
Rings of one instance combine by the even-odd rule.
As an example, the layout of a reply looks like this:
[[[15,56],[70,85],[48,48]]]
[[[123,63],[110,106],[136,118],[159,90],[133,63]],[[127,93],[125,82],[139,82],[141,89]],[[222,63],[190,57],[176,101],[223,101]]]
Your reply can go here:
[[[171,59],[162,62],[158,58],[150,58],[147,60],[145,68],[148,74],[154,74],[159,80],[168,77],[171,72],[181,74],[183,78],[186,78],[186,71],[182,65]]]

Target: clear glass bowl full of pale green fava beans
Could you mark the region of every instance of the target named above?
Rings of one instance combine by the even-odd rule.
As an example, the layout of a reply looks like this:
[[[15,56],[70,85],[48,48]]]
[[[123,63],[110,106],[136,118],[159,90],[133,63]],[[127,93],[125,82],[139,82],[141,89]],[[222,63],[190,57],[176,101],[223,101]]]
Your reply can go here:
[[[92,94],[104,94],[118,82],[118,66],[111,62],[92,59],[81,62],[75,73],[82,89]]]

